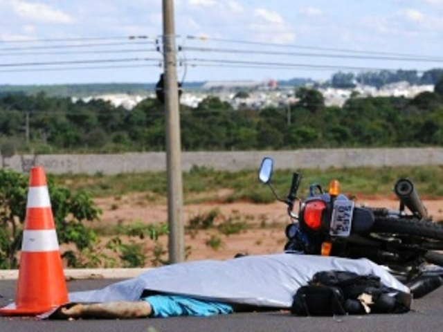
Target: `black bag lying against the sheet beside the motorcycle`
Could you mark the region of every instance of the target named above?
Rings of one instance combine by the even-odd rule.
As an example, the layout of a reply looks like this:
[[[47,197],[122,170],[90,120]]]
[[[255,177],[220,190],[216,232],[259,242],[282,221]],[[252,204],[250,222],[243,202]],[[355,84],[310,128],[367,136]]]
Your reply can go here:
[[[345,315],[405,313],[412,297],[383,285],[375,275],[347,271],[322,271],[307,286],[298,288],[291,313],[296,315]]]

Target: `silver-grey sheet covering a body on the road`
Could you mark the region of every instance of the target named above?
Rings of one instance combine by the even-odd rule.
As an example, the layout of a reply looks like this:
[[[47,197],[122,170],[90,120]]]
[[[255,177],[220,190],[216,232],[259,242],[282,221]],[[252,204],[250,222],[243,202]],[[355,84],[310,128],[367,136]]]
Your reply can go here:
[[[70,293],[69,301],[136,301],[145,292],[186,295],[230,304],[289,308],[297,289],[323,270],[377,275],[386,286],[409,292],[385,268],[368,259],[278,254],[163,266],[102,289]]]

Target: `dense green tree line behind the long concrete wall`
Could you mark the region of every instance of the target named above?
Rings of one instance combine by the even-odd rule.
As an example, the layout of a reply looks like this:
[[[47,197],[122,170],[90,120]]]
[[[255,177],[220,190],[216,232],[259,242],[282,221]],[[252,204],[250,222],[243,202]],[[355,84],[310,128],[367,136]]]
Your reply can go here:
[[[443,145],[443,81],[435,92],[359,98],[326,107],[323,95],[300,88],[287,107],[233,109],[208,97],[197,108],[181,105],[185,151],[404,147]],[[134,109],[109,102],[72,102],[44,93],[0,95],[0,148],[6,154],[163,151],[163,105],[146,99]]]

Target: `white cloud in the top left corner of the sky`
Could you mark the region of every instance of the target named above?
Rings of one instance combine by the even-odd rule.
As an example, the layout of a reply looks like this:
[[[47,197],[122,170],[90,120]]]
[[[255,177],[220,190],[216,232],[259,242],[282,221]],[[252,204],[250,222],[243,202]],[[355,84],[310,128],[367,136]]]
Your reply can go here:
[[[31,3],[28,1],[9,1],[12,10],[22,19],[43,23],[72,24],[74,19],[44,3]]]

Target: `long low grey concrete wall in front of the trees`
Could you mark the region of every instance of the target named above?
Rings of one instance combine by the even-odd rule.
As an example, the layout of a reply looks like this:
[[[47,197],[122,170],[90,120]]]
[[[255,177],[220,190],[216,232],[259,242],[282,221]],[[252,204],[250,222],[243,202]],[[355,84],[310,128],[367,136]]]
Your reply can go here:
[[[276,169],[327,167],[381,167],[443,165],[443,148],[408,149],[300,149],[293,151],[183,152],[183,171],[193,166],[237,171],[257,169],[264,156],[275,160]],[[52,174],[119,174],[164,171],[164,152],[129,154],[66,154],[5,158],[8,169],[27,172],[31,165],[42,165]]]

